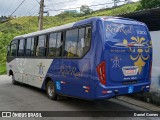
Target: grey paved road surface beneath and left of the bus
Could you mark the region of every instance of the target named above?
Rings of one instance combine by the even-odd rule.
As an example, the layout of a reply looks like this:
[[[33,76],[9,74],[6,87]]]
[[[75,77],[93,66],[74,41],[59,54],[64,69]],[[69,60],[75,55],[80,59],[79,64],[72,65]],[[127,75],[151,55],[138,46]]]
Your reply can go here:
[[[74,98],[49,100],[44,91],[28,85],[12,85],[11,78],[0,76],[0,111],[146,111],[143,108],[118,101],[86,101]],[[64,119],[64,118],[63,118]],[[73,117],[72,117],[73,119]],[[91,118],[79,118],[91,119]],[[105,119],[105,118],[101,118]],[[114,118],[116,119],[116,118]],[[128,118],[123,118],[128,119]],[[138,118],[130,118],[138,119]],[[157,119],[158,118],[142,118]]]

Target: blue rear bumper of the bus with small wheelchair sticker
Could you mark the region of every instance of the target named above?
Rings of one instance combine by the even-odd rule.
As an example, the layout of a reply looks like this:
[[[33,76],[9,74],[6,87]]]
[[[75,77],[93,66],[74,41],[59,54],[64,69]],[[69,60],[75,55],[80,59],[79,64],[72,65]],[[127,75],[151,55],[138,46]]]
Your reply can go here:
[[[106,87],[99,84],[96,92],[96,99],[112,98],[120,95],[133,94],[138,92],[149,92],[150,83],[141,83],[134,85],[112,86]]]

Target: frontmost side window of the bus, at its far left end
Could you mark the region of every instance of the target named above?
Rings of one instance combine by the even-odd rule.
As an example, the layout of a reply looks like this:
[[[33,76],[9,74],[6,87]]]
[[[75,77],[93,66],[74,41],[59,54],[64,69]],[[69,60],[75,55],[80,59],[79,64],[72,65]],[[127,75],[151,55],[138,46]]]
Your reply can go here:
[[[18,40],[12,41],[11,42],[10,56],[15,57],[17,55],[17,47],[18,47]]]

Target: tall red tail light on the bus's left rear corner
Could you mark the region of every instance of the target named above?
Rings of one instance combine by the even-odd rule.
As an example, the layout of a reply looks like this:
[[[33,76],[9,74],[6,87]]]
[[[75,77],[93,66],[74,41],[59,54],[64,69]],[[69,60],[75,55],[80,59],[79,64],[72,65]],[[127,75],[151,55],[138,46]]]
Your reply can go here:
[[[102,61],[98,66],[97,66],[97,73],[100,82],[103,85],[106,85],[106,62]]]

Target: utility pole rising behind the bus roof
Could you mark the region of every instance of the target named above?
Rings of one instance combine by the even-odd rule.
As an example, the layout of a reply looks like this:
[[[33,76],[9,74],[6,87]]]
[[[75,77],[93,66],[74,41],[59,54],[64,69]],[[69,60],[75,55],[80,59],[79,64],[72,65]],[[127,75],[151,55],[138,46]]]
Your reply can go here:
[[[43,30],[43,11],[44,11],[44,0],[41,0],[39,9],[38,30]]]

